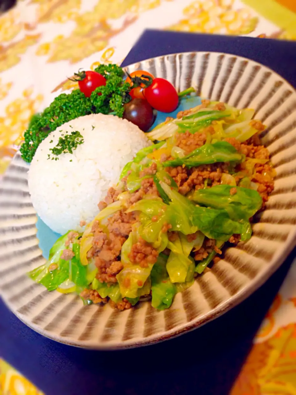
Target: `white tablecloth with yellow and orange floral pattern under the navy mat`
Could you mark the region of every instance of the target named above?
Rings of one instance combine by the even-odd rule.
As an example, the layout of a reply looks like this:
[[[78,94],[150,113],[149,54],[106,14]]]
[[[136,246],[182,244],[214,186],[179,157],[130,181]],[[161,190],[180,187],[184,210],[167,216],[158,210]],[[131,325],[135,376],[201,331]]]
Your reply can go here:
[[[71,87],[65,76],[121,63],[145,28],[296,40],[296,1],[19,0],[0,15],[0,178],[30,117]],[[296,262],[231,395],[296,394],[295,283]],[[1,394],[41,391],[0,359]]]

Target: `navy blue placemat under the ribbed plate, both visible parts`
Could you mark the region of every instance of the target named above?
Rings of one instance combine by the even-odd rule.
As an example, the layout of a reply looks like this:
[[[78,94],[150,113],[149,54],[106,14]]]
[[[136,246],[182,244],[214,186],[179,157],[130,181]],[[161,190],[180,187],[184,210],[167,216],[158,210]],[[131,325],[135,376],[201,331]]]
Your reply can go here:
[[[272,40],[147,31],[124,64],[195,50],[253,58],[296,86],[295,43]],[[59,344],[26,327],[0,301],[0,356],[46,395],[227,395],[294,256],[295,251],[257,292],[222,317],[134,350],[99,352]]]

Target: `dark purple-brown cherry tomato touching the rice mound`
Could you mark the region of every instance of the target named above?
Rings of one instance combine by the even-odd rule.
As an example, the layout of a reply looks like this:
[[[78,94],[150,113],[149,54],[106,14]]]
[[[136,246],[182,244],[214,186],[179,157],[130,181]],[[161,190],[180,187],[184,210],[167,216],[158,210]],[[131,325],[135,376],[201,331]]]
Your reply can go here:
[[[143,132],[147,132],[155,120],[153,108],[144,99],[133,99],[126,103],[123,118],[137,125]]]

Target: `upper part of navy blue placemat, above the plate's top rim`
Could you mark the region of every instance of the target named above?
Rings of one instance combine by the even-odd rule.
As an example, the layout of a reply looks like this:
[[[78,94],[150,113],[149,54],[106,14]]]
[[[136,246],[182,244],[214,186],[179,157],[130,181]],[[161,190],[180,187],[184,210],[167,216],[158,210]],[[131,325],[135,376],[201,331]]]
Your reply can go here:
[[[122,66],[155,56],[191,51],[224,52],[253,59],[296,87],[296,42],[293,41],[146,30]]]

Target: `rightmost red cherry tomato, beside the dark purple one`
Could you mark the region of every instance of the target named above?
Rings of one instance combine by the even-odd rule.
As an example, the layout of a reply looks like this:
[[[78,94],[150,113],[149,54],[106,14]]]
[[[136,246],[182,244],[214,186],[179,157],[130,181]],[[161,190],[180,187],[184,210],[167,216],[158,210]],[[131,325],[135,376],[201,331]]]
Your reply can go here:
[[[144,89],[147,102],[155,110],[171,113],[178,107],[179,97],[173,85],[163,78],[155,78],[149,87]]]

